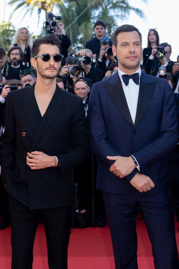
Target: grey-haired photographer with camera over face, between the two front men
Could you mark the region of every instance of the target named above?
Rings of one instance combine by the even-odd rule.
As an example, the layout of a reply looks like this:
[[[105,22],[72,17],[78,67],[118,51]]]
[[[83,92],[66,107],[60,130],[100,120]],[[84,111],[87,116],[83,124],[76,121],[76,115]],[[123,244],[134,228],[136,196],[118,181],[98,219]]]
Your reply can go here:
[[[96,83],[102,80],[105,72],[102,69],[95,68],[95,66],[92,65],[93,59],[95,60],[95,57],[93,57],[92,51],[90,49],[84,48],[72,55],[79,57],[80,65],[82,68],[81,75],[83,78],[90,78],[92,83]]]

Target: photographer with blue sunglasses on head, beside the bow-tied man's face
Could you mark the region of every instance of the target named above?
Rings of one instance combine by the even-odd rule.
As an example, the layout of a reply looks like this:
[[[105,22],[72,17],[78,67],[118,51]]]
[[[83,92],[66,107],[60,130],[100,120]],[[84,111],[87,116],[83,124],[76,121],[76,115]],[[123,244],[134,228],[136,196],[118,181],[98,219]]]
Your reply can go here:
[[[108,67],[112,63],[117,63],[113,53],[112,53],[112,41],[109,38],[102,38],[100,41],[100,53],[98,61],[96,62],[96,67],[100,68],[106,73]]]

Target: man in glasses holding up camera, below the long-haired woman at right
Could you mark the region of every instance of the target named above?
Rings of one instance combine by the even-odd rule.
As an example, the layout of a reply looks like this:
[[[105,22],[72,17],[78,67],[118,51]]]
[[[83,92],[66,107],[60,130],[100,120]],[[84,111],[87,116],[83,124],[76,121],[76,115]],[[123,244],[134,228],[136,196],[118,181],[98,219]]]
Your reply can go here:
[[[160,47],[163,46],[164,48],[161,48],[160,50],[164,50],[164,53],[158,53],[160,51],[157,46],[152,48],[152,53],[149,56],[148,60],[146,61],[144,67],[145,67],[145,73],[150,74],[152,76],[158,77],[158,70],[160,68],[166,68],[166,71],[171,73],[173,68],[173,61],[170,61],[170,56],[172,53],[171,45],[168,43],[161,43]],[[155,60],[155,56],[158,58],[158,60]]]

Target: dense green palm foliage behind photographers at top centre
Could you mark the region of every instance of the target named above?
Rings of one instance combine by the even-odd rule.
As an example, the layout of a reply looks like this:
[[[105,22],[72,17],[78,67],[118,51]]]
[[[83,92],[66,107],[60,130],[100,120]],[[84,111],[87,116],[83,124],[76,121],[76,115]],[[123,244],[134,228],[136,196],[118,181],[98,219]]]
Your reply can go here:
[[[59,10],[72,46],[76,49],[84,48],[86,41],[93,37],[93,25],[99,19],[105,22],[106,33],[111,36],[118,26],[118,19],[127,18],[130,11],[144,17],[143,11],[130,6],[127,0],[69,0],[65,3],[59,6]]]

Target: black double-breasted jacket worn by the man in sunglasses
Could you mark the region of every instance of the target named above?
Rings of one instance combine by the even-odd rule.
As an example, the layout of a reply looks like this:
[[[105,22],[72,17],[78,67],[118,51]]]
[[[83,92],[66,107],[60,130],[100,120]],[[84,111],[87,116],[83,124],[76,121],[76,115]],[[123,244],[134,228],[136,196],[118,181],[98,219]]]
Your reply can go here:
[[[57,85],[40,122],[34,87],[7,96],[2,180],[7,192],[30,209],[68,206],[73,203],[72,169],[89,157],[84,105]],[[31,170],[26,156],[35,150],[56,155],[61,167]]]

